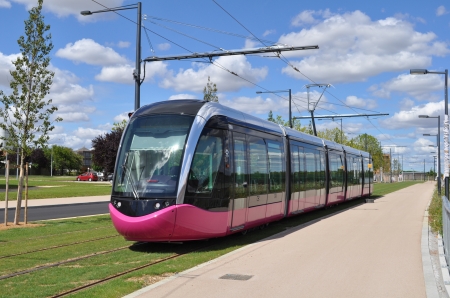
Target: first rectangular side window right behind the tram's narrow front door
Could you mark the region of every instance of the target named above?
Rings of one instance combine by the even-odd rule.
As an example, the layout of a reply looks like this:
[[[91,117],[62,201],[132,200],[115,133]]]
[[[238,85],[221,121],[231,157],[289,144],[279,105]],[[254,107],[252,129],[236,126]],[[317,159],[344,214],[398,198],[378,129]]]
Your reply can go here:
[[[250,137],[250,195],[267,193],[267,151],[263,139]]]

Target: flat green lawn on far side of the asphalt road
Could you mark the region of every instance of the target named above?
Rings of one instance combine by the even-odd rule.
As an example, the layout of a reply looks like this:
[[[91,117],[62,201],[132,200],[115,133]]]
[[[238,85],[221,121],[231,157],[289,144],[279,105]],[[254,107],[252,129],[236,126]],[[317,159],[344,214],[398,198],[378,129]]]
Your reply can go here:
[[[52,199],[67,197],[101,196],[111,194],[109,182],[77,182],[74,176],[48,177],[30,176],[28,178],[28,199]],[[17,184],[15,179],[9,179],[8,199],[17,197]],[[5,178],[0,179],[0,190],[6,188]],[[25,194],[24,194],[25,195]],[[23,199],[25,196],[22,197]],[[5,200],[5,192],[0,192],[0,201]]]

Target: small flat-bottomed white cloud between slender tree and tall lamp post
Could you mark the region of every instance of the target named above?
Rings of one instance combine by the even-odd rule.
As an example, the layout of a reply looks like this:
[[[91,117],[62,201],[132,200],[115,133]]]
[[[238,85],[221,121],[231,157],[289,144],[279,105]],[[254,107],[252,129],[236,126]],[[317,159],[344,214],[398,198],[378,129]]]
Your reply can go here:
[[[112,48],[104,47],[94,40],[86,38],[75,43],[68,43],[65,48],[56,52],[56,56],[90,65],[107,66],[127,63],[127,59]]]

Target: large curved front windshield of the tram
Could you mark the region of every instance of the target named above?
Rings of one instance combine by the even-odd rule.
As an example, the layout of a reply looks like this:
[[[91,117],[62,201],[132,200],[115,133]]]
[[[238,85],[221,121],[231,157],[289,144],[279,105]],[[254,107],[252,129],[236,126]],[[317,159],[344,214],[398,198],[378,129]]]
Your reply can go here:
[[[176,195],[181,158],[193,116],[132,119],[116,163],[113,195],[164,198]]]

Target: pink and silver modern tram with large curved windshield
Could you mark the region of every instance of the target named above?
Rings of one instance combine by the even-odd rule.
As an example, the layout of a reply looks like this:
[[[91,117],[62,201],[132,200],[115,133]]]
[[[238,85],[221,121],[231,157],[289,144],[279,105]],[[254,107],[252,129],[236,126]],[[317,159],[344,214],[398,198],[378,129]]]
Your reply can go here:
[[[219,103],[146,105],[122,136],[109,210],[127,240],[226,236],[372,192],[366,152]]]

